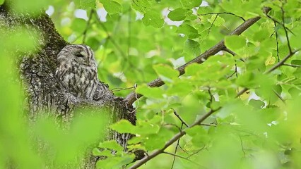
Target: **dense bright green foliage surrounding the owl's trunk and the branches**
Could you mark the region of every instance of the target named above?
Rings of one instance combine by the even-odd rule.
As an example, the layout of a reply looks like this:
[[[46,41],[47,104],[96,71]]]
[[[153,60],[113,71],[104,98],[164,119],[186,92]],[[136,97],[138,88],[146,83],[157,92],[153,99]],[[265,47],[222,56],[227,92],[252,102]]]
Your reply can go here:
[[[297,51],[301,47],[301,1],[208,0],[203,1],[208,6],[201,4],[201,0],[76,0],[27,7],[51,5],[59,33],[70,43],[91,46],[99,61],[100,80],[115,94],[126,96],[134,90],[143,94],[134,104],[136,126],[126,120],[111,125],[118,132],[136,134],[129,141],[129,151],[143,149],[152,154],[164,150],[141,168],[301,168],[301,55]],[[271,11],[265,14],[264,7]],[[80,8],[85,11],[78,11]],[[256,16],[261,19],[242,35],[229,36]],[[175,68],[222,39],[230,52],[188,65],[178,77]],[[28,161],[41,158],[26,146],[26,127],[20,126],[25,124],[18,118],[22,103],[18,87],[6,84],[10,80],[6,72],[14,68],[5,64],[8,58],[0,59],[0,89],[7,98],[0,102],[0,125],[5,129],[0,133],[0,166],[5,164],[4,156],[28,166]],[[148,87],[157,77],[165,85]],[[237,96],[243,89],[248,90]],[[212,110],[216,112],[201,125],[186,130],[186,125]],[[56,132],[39,132],[48,124],[38,124],[42,127],[37,127],[37,136],[54,143],[64,138]],[[182,130],[187,134],[163,149]],[[11,138],[12,134],[18,139]],[[15,144],[20,147],[11,149]],[[98,162],[99,168],[120,168],[134,159],[134,154],[122,152],[114,141],[99,146],[105,150],[94,149],[93,154],[108,156]],[[57,146],[59,151],[70,151],[65,148]],[[116,154],[111,154],[112,149]],[[19,159],[20,152],[26,158]]]

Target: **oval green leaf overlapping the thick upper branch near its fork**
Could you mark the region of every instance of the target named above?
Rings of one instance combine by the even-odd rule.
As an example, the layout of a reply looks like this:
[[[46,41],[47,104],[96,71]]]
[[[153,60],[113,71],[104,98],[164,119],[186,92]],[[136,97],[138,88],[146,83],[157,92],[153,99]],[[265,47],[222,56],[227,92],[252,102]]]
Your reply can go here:
[[[232,51],[236,51],[237,49],[241,49],[243,46],[246,46],[246,39],[238,35],[227,36],[225,37],[225,46]]]

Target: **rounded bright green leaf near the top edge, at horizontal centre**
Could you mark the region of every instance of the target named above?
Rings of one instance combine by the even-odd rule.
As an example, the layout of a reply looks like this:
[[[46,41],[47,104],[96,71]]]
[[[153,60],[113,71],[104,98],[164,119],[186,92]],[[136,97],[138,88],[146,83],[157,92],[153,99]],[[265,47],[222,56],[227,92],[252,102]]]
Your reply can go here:
[[[142,18],[144,25],[151,25],[152,27],[160,28],[164,24],[164,20],[161,17],[160,13],[155,11],[148,11],[144,14]]]

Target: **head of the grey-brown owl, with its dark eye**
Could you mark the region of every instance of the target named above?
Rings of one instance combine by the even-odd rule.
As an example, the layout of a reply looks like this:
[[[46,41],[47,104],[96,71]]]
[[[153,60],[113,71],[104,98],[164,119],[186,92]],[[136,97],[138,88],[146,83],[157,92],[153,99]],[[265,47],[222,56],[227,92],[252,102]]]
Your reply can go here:
[[[75,61],[80,65],[95,65],[95,58],[92,49],[84,44],[70,44],[65,46],[61,49],[59,54],[57,54],[57,61],[59,64]]]

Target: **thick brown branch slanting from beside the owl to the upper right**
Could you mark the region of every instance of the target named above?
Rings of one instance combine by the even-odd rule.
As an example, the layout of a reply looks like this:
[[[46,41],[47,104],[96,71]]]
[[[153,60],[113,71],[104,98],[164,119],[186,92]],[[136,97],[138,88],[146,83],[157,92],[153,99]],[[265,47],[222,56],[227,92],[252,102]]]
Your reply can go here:
[[[264,8],[264,13],[268,13],[268,11],[271,11],[271,8]],[[233,30],[230,33],[230,35],[240,35],[240,34],[242,34],[242,32],[244,32],[244,30],[247,30],[247,28],[251,27],[259,19],[260,19],[260,17],[258,16],[258,17],[246,20],[244,23],[242,23],[242,25],[238,26],[235,30]],[[215,46],[211,47],[211,49],[208,49],[207,51],[205,51],[200,56],[194,58],[193,60],[189,61],[188,63],[185,63],[184,65],[182,65],[179,68],[177,68],[177,70],[179,71],[179,76],[183,75],[185,73],[185,68],[188,65],[191,65],[192,63],[199,63],[199,64],[201,64],[204,61],[206,61],[206,59],[208,59],[210,56],[213,56],[213,55],[217,54],[219,51],[222,51],[224,49],[225,49],[224,40],[221,40],[220,42],[218,42],[218,44],[216,44]],[[155,79],[155,80],[153,80],[151,82],[148,82],[148,86],[149,87],[160,87],[163,84],[164,84],[164,82],[160,78]],[[142,96],[142,94],[136,94],[135,92],[131,92],[131,94],[129,94],[129,95],[126,96],[126,98],[124,99],[124,101],[126,101],[128,105],[131,105],[131,104],[134,103],[134,101],[136,101],[137,99],[139,99],[141,96]]]

